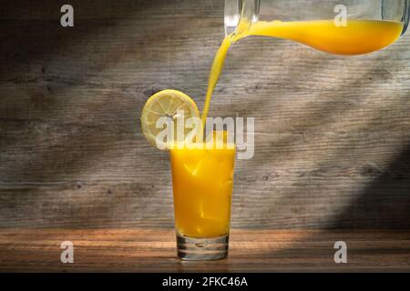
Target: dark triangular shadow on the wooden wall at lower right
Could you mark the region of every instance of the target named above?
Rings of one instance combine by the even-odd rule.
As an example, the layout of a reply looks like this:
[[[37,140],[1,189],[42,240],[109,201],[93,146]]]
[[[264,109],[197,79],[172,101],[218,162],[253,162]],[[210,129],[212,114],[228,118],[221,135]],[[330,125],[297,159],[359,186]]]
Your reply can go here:
[[[369,166],[362,175],[374,181],[329,228],[410,228],[410,146],[387,169]]]

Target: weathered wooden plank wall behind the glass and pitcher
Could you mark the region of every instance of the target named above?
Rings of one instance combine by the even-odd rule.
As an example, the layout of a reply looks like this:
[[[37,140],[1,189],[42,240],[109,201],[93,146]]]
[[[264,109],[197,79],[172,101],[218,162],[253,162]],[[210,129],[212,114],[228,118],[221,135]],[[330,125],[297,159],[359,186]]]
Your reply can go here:
[[[203,104],[221,0],[0,3],[0,227],[173,227],[169,156],[141,135],[153,93]],[[211,115],[256,118],[235,228],[410,227],[410,34],[382,52],[233,46]]]

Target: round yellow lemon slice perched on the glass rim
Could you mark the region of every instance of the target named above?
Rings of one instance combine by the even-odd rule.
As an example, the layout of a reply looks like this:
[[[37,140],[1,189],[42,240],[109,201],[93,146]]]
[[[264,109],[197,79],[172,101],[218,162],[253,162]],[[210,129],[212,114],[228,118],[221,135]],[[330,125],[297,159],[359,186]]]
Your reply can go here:
[[[164,127],[158,128],[159,118],[165,117],[169,122],[173,122],[173,132],[177,132],[177,117],[183,115],[187,120],[190,117],[200,118],[200,112],[195,102],[189,95],[176,90],[163,90],[149,97],[142,109],[141,127],[149,144],[157,146],[159,149],[169,149],[170,142],[165,142],[159,138],[159,134],[164,131]],[[163,121],[164,119],[161,119]],[[185,133],[187,134],[187,133]],[[174,134],[176,138],[176,134]]]

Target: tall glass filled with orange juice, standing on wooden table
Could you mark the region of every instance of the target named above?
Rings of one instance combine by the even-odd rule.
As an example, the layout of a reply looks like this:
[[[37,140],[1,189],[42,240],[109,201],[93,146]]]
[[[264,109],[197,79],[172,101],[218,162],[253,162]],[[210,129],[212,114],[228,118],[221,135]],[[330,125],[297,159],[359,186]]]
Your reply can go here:
[[[170,149],[178,256],[228,255],[235,147]]]

